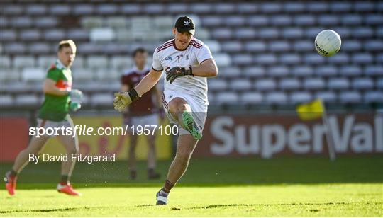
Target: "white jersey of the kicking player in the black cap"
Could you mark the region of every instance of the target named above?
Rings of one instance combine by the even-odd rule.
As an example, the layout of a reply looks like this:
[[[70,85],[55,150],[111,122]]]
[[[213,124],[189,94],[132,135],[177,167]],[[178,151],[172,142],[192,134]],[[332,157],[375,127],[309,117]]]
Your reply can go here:
[[[165,42],[155,49],[153,54],[152,68],[156,71],[166,73],[172,67],[196,67],[207,59],[213,59],[209,47],[204,42],[192,38],[185,50],[177,50],[174,39]],[[166,77],[166,76],[165,76]],[[170,84],[164,79],[166,91],[176,91],[189,94],[196,100],[209,105],[208,88],[206,77],[200,76],[179,76]]]

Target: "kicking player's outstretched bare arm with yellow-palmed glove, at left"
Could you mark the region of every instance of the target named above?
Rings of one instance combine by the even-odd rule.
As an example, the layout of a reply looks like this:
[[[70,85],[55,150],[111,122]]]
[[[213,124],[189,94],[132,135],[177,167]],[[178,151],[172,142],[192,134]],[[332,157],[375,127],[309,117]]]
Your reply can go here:
[[[140,83],[131,89],[129,92],[115,93],[114,96],[114,109],[123,111],[127,105],[135,101],[146,92],[148,92],[161,78],[161,71],[151,69],[149,74],[144,76]]]

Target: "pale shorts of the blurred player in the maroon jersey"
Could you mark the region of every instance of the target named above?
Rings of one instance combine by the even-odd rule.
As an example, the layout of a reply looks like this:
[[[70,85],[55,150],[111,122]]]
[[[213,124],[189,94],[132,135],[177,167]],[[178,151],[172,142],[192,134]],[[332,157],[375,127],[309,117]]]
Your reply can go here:
[[[143,116],[133,116],[133,117],[130,117],[129,123],[124,123],[124,125],[128,125],[128,130],[131,132],[132,132],[131,127],[134,127],[135,134],[137,134],[140,131],[143,131],[144,128],[152,132],[158,128],[158,125],[159,125],[158,119],[159,119],[159,116],[157,113],[152,113],[150,115],[143,115]]]

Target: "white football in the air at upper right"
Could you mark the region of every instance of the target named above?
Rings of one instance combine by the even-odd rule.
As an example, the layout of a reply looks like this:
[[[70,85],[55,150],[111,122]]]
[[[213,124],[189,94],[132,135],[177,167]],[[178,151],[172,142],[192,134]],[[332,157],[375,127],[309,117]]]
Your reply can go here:
[[[325,56],[331,57],[340,50],[342,40],[340,36],[334,30],[323,30],[318,33],[315,38],[316,51]]]

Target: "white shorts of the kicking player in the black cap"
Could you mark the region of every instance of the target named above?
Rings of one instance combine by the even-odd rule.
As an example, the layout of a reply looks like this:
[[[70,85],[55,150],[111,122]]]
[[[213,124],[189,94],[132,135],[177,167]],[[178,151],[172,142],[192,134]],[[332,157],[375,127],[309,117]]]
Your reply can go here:
[[[194,96],[190,96],[185,93],[180,93],[176,91],[164,91],[162,94],[162,105],[164,107],[165,113],[170,123],[178,125],[179,127],[178,134],[182,135],[182,134],[190,134],[190,133],[184,128],[179,126],[179,123],[177,122],[177,120],[174,119],[173,115],[168,110],[168,104],[174,98],[182,98],[184,99],[184,101],[187,101],[187,103],[190,105],[191,111],[193,112],[192,115],[194,117],[194,121],[196,122],[196,125],[199,126],[201,131],[204,130],[208,105],[206,105],[205,103],[201,103]]]

